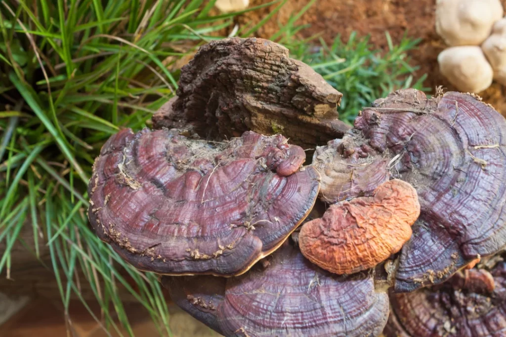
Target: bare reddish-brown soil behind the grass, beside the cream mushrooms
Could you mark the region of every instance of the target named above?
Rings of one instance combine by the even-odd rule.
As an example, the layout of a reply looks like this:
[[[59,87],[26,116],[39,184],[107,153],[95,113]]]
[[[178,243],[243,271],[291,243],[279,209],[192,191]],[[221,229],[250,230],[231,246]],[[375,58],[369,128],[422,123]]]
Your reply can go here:
[[[262,27],[258,37],[269,37],[285,24],[293,13],[299,12],[309,0],[289,0],[274,17]],[[501,0],[506,8],[506,0]],[[250,6],[265,4],[270,0],[252,0]],[[436,34],[435,0],[317,0],[301,17],[301,24],[311,27],[301,32],[302,37],[309,37],[323,32],[326,42],[341,34],[346,40],[352,31],[359,35],[370,34],[371,42],[377,49],[386,49],[385,31],[388,30],[393,42],[398,43],[404,32],[412,38],[421,38],[418,49],[410,53],[412,65],[420,69],[416,76],[424,73],[428,78],[425,86],[435,88],[443,85],[447,90],[455,90],[440,74],[437,56],[445,44]],[[264,8],[239,18],[242,24],[259,22],[275,6]],[[339,89],[339,88],[338,88]],[[494,83],[480,93],[485,102],[493,105],[506,116],[506,87]]]

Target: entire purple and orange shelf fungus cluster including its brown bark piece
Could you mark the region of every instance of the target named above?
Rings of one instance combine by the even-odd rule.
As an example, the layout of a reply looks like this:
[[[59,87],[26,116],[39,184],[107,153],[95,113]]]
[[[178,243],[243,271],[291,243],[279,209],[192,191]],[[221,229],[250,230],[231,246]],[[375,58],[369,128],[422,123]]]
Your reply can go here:
[[[193,317],[225,336],[506,331],[506,121],[478,97],[400,90],[349,128],[341,93],[256,38],[202,46],[177,93],[104,144],[89,219]]]

